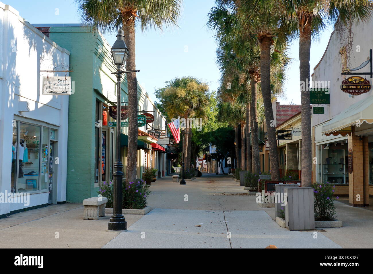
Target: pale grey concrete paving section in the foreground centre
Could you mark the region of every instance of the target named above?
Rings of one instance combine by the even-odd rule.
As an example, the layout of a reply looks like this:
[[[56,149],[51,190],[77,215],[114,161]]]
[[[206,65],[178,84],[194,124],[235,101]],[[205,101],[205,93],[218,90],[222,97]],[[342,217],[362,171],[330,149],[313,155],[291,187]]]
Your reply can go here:
[[[341,248],[321,233],[315,239],[313,232],[282,229],[264,211],[161,208],[142,217],[104,248],[265,248],[268,245]]]

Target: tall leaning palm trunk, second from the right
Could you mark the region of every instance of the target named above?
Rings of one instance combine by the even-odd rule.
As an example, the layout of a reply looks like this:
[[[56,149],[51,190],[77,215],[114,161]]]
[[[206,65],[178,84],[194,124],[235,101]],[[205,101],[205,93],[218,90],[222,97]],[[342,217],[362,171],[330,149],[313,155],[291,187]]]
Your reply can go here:
[[[270,172],[272,180],[280,179],[279,157],[277,152],[276,128],[273,119],[271,86],[270,86],[270,46],[271,38],[264,36],[259,43],[260,47],[260,79],[261,94],[263,97],[264,114],[268,133]]]

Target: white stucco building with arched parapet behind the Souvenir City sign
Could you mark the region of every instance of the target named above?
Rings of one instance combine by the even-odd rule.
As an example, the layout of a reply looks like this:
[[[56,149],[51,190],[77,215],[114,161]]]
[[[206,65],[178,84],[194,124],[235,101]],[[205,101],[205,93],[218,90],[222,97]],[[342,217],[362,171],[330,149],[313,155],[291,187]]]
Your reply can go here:
[[[333,31],[312,74],[313,86],[329,88],[330,92],[330,104],[320,104],[324,114],[312,114],[313,157],[317,159],[313,180],[335,184],[336,193],[348,195],[353,206],[369,205],[369,195],[373,195],[373,93],[369,90],[351,95],[341,90],[341,84],[351,76],[361,76],[370,83],[373,79],[370,75],[341,75],[341,72],[369,60],[369,51],[373,48],[372,27],[373,19],[352,25],[351,50],[338,32]],[[345,62],[348,53],[350,63]],[[369,72],[370,66],[368,62],[365,67],[350,72]],[[357,195],[361,199],[355,199]]]

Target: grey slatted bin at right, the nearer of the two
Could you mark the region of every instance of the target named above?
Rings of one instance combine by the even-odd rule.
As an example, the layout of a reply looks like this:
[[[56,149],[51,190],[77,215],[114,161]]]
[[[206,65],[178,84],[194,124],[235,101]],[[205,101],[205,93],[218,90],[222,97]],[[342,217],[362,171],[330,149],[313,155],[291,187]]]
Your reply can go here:
[[[313,188],[285,188],[285,225],[289,230],[315,229]]]

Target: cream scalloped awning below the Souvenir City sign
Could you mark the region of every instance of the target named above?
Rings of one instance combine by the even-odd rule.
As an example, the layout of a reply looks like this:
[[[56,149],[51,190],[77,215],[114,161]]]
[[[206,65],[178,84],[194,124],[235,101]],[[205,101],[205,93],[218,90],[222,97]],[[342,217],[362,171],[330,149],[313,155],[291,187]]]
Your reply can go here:
[[[341,113],[322,126],[321,132],[327,136],[330,134],[345,136],[351,133],[352,126],[361,125],[363,122],[373,123],[373,96],[341,111]]]

